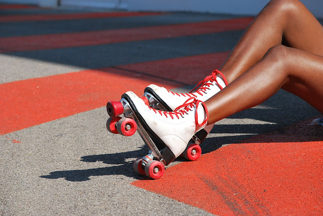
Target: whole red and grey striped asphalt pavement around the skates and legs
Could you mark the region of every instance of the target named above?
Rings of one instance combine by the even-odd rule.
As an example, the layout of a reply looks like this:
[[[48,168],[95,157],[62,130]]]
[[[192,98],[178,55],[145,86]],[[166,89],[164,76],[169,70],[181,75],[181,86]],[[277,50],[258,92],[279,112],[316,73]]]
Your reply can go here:
[[[308,126],[322,116],[286,91],[217,122],[201,159],[159,180],[133,171],[148,151],[137,133],[105,128],[122,92],[191,90],[252,18],[10,5],[0,17],[1,215],[323,213],[323,128]]]

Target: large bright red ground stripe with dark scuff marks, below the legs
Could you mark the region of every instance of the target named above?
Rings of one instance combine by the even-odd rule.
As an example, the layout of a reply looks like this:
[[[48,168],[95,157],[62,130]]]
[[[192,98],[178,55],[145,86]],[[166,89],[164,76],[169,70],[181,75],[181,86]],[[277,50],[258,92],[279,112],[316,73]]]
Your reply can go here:
[[[308,123],[222,147],[168,168],[159,180],[132,184],[217,215],[322,215],[323,128]]]

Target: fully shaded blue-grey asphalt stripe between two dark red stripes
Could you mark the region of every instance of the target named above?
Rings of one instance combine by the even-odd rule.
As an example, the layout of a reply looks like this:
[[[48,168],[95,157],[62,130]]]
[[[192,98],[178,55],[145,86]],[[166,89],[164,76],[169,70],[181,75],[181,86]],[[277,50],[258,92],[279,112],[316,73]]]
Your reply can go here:
[[[9,22],[0,23],[0,37],[39,35],[44,34],[44,32],[46,32],[46,34],[59,34],[123,28],[162,26],[232,19],[235,17],[237,16],[200,13],[176,13],[159,16],[152,15],[138,17],[135,16],[117,18],[110,17],[93,19],[49,20],[41,22]]]

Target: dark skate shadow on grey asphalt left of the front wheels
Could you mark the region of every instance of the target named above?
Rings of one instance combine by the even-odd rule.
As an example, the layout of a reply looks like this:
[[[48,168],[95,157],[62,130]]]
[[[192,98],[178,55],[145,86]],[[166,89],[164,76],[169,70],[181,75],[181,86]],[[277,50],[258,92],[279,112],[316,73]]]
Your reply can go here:
[[[147,177],[139,176],[133,170],[134,160],[142,157],[148,152],[148,147],[143,146],[138,150],[120,152],[113,154],[98,154],[86,155],[81,157],[81,161],[87,163],[101,162],[103,164],[113,165],[103,168],[94,168],[86,170],[66,170],[54,171],[49,175],[40,176],[45,179],[59,179],[63,178],[71,182],[82,182],[90,180],[91,176],[109,176],[109,175],[123,175],[134,179],[144,179]]]

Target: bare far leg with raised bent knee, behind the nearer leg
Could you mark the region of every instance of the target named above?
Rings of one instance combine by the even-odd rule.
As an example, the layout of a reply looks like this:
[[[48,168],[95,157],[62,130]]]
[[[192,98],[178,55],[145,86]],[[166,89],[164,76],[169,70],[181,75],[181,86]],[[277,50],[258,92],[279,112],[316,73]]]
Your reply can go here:
[[[267,50],[286,45],[323,56],[323,27],[298,0],[272,0],[246,29],[221,68],[232,82]]]

